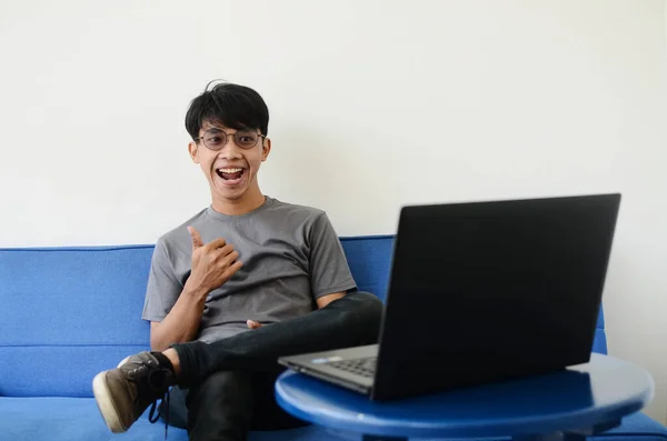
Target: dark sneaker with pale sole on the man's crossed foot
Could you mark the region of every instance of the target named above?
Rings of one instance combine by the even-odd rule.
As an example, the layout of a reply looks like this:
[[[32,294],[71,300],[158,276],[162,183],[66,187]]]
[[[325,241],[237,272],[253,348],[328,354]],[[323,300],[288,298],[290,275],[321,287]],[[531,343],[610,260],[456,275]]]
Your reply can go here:
[[[92,380],[92,393],[107,427],[113,433],[127,431],[152,404],[149,420],[156,422],[158,400],[165,400],[173,384],[171,370],[160,365],[150,352],[122,360],[118,368],[103,371]],[[155,420],[155,421],[153,421]]]

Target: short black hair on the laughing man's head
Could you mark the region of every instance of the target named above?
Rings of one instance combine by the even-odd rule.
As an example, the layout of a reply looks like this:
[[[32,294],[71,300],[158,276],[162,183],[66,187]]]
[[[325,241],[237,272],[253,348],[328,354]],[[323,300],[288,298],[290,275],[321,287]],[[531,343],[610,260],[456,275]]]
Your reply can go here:
[[[192,139],[199,138],[205,122],[222,124],[230,129],[259,129],[268,134],[269,109],[259,93],[246,87],[222,82],[205,91],[190,102],[186,113],[186,130]]]

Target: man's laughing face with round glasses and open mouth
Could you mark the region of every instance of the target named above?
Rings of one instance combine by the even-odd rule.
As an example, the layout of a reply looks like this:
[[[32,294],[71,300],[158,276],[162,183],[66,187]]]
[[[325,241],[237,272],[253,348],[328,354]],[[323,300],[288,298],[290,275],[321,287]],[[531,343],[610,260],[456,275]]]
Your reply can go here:
[[[198,142],[190,142],[189,150],[209,181],[211,196],[238,201],[249,189],[259,189],[257,172],[269,156],[271,141],[260,137],[257,129],[236,130],[205,122]]]

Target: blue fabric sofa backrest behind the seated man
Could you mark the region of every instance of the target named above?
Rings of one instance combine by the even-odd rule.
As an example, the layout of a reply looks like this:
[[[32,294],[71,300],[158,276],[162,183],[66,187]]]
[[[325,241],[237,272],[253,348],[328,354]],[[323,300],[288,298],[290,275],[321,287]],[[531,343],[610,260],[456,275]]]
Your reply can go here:
[[[394,238],[341,238],[360,290],[385,299]],[[149,349],[152,245],[0,249],[0,395],[92,397],[100,370]],[[593,350],[606,353],[603,313]]]

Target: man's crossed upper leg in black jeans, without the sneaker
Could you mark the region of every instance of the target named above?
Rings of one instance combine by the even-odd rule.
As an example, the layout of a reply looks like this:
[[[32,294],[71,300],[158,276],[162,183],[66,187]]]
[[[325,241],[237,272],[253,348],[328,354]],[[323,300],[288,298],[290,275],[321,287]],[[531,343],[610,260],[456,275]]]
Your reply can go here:
[[[218,370],[270,371],[279,357],[376,343],[381,314],[377,297],[354,292],[307,315],[210,344],[173,344],[176,353],[168,350],[166,355],[179,384],[201,381]]]

